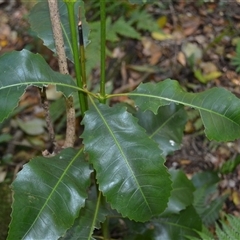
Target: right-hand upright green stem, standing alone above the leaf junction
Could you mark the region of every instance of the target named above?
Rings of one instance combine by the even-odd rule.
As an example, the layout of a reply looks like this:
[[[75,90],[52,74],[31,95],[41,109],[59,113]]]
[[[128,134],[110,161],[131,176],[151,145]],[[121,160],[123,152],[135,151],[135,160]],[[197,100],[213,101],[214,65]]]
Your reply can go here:
[[[100,102],[106,102],[105,82],[106,82],[106,6],[105,0],[100,1],[101,15],[101,82],[100,82]]]

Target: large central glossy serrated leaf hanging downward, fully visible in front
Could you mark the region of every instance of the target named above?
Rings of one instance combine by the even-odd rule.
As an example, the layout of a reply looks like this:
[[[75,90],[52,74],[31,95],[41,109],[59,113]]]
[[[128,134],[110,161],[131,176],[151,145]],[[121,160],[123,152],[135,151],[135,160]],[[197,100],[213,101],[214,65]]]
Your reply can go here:
[[[161,152],[126,108],[92,103],[82,137],[99,189],[124,217],[147,221],[164,211],[171,191]]]

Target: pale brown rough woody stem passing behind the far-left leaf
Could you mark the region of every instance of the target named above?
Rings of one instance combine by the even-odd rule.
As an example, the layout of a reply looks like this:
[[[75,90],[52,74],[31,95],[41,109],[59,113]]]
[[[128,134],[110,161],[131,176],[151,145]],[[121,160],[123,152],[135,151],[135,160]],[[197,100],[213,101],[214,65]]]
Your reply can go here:
[[[50,18],[52,23],[53,36],[55,41],[56,52],[58,55],[58,65],[60,73],[69,74],[67,66],[67,58],[64,50],[64,40],[62,29],[60,25],[60,16],[58,11],[58,1],[48,0]],[[67,111],[67,130],[64,148],[73,147],[75,141],[75,109],[73,104],[73,98],[66,99],[66,111]]]

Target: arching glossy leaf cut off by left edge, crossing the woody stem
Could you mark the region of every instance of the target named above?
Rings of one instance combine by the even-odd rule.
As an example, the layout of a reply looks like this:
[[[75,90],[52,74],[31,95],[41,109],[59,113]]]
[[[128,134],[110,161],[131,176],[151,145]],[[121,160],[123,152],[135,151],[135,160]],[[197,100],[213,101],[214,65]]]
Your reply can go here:
[[[43,57],[27,50],[13,51],[0,57],[0,102],[2,122],[17,106],[29,85],[42,87],[56,84],[65,96],[72,94],[76,84],[68,75],[54,72]]]

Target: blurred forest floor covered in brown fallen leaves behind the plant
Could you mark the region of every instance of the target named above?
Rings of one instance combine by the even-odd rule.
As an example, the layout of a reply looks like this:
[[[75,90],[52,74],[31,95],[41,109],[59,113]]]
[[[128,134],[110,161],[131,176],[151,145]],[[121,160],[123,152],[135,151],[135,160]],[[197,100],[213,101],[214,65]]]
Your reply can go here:
[[[8,1],[5,1],[8,2]],[[30,49],[40,52],[57,70],[57,60],[29,30],[26,16],[29,5],[0,4],[0,55],[12,50]],[[26,1],[27,2],[27,1]],[[141,41],[122,39],[124,49],[115,46],[116,58],[109,58],[108,66],[114,66],[111,76],[112,91],[133,90],[141,81],[176,79],[184,89],[201,92],[211,87],[224,87],[240,96],[240,76],[231,59],[236,55],[240,40],[240,1],[169,1],[162,9],[147,9],[165,35],[142,33]],[[112,45],[111,45],[112,46]],[[131,58],[121,61],[121,53]],[[117,59],[117,60],[116,60]],[[120,59],[120,61],[118,61]],[[110,69],[110,67],[109,67]],[[160,69],[160,70],[159,70]],[[98,70],[90,78],[96,84]],[[46,149],[48,135],[44,129],[44,111],[35,88],[27,90],[20,106],[7,125],[0,125],[0,232],[6,234],[10,218],[9,184],[22,165]],[[126,101],[126,99],[117,99]],[[221,99],[224,102],[224,99]],[[18,119],[18,120],[17,120]],[[19,120],[20,119],[20,120]],[[28,132],[27,120],[40,120],[42,131]],[[79,119],[80,121],[80,119]],[[64,127],[58,122],[59,143],[64,139]],[[229,143],[210,142],[203,134],[199,116],[189,111],[182,148],[168,156],[167,166],[182,168],[191,177],[197,171],[216,170],[240,154],[240,141]],[[79,133],[81,129],[78,129]],[[79,143],[76,143],[79,144]],[[239,215],[240,168],[222,175],[219,195],[229,194],[224,210]],[[4,220],[3,220],[4,219]],[[0,239],[1,233],[0,233]]]

